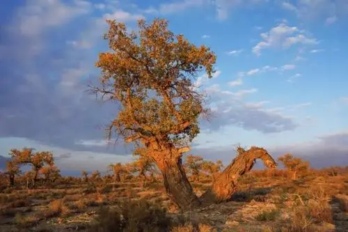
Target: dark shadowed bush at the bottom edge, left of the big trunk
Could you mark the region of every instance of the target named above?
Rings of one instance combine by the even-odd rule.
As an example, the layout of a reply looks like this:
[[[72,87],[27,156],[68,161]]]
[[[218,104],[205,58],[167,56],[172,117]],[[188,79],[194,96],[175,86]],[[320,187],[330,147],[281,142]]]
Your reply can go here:
[[[89,232],[169,231],[171,219],[166,210],[148,201],[125,201],[117,210],[101,208]]]

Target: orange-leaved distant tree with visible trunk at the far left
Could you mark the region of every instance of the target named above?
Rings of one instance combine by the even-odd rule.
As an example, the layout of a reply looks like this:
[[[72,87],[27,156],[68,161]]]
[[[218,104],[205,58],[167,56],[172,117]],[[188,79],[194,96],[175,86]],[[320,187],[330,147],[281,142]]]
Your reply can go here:
[[[9,155],[12,156],[13,162],[17,164],[31,164],[33,171],[33,187],[38,181],[40,169],[45,166],[54,165],[53,154],[49,151],[34,152],[33,148],[23,148],[22,150],[12,149]]]

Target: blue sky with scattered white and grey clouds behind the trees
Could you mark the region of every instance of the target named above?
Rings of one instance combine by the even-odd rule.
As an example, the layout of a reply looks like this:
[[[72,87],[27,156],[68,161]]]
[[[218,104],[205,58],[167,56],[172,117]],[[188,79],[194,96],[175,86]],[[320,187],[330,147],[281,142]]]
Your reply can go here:
[[[286,152],[313,166],[348,165],[348,1],[28,0],[0,9],[0,155],[52,150],[63,170],[104,169],[132,159],[103,141],[116,114],[84,90],[97,82],[106,19],[164,17],[175,33],[217,55],[192,153],[229,162],[235,144]]]

